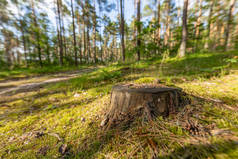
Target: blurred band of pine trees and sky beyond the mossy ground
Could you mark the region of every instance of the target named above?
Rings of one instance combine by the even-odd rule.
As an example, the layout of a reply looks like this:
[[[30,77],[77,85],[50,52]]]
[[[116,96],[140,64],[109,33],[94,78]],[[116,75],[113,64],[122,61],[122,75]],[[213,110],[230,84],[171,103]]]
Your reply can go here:
[[[0,0],[0,67],[236,50],[237,11],[236,0]]]

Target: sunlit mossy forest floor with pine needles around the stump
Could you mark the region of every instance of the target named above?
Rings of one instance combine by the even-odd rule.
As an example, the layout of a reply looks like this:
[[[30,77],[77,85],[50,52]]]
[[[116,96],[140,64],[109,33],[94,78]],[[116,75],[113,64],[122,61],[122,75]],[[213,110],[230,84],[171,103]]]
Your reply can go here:
[[[0,158],[238,158],[237,57],[197,53],[21,80],[10,73],[0,83]],[[100,127],[113,85],[155,81],[182,88],[191,104],[168,118]]]

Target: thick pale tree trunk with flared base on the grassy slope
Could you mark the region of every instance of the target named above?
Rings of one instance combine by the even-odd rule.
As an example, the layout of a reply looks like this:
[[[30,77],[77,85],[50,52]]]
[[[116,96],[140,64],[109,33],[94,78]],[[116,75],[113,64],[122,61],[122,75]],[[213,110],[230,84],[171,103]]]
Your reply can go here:
[[[184,0],[182,42],[179,48],[178,57],[184,57],[186,53],[187,34],[188,34],[187,33],[187,11],[188,11],[188,0]]]

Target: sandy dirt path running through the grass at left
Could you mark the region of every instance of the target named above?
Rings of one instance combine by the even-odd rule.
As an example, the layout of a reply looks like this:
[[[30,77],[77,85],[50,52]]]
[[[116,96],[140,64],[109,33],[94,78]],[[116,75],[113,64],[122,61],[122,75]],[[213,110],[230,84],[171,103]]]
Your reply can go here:
[[[33,77],[33,78],[23,79],[18,81],[0,82],[0,97],[11,96],[13,94],[21,93],[21,92],[38,90],[47,84],[67,81],[81,74],[89,73],[94,70],[95,68],[88,68],[88,69],[81,69],[74,72],[45,75],[41,77]]]

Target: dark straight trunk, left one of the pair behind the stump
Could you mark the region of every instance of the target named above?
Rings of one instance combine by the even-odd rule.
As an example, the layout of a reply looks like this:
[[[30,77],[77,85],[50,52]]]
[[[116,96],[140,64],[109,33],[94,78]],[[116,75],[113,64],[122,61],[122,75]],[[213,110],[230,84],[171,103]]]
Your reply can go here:
[[[121,10],[121,52],[122,52],[122,60],[125,62],[126,60],[126,53],[125,53],[125,39],[124,39],[124,0],[120,0],[120,10]]]

